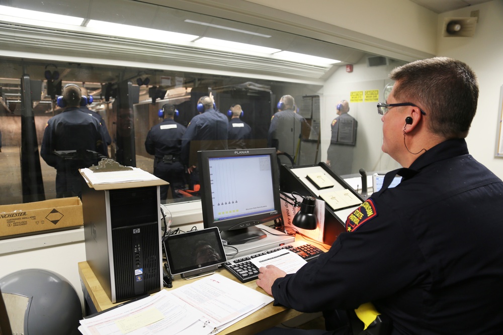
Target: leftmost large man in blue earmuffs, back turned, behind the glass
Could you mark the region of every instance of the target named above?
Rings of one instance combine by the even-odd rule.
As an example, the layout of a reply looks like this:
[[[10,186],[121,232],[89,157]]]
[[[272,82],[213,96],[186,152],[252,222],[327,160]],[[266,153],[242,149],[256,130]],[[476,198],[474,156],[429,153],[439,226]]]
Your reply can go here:
[[[100,122],[80,109],[86,101],[80,87],[67,84],[63,95],[58,97],[58,105],[66,106],[63,113],[49,119],[45,128],[40,156],[56,169],[56,196],[80,196],[82,176],[79,168],[89,167],[103,158],[108,151],[102,138]],[[86,150],[97,152],[93,155]],[[65,157],[55,151],[76,151]],[[61,155],[63,154],[63,155]]]

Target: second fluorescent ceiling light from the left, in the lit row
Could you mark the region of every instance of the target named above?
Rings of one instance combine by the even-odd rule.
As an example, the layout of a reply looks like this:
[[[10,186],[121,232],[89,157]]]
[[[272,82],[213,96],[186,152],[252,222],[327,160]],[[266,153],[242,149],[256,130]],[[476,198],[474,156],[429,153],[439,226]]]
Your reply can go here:
[[[164,30],[122,25],[119,23],[98,20],[90,20],[86,27],[99,29],[100,31],[98,33],[100,34],[163,43],[190,42],[199,37],[196,35],[174,33]],[[95,32],[97,31],[95,30]]]

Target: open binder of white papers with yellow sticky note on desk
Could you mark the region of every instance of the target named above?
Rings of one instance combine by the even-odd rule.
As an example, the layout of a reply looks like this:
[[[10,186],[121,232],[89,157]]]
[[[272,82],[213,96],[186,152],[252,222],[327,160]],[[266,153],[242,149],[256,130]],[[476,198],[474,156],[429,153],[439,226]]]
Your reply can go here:
[[[264,307],[274,299],[214,274],[80,320],[85,335],[208,335]]]

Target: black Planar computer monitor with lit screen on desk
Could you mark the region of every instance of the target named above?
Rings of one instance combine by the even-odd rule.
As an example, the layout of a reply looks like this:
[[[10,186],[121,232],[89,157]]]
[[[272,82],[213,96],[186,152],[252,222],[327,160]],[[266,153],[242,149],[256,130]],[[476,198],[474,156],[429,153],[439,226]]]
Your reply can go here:
[[[198,169],[204,228],[228,245],[265,238],[254,226],[282,216],[276,149],[199,151]]]

